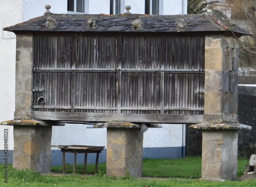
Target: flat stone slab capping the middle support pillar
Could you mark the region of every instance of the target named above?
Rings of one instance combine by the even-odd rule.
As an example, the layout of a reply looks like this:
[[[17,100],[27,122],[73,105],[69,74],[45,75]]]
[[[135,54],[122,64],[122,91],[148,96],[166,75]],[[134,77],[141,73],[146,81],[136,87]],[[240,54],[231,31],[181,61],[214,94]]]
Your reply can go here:
[[[146,124],[148,128],[161,128],[159,125],[153,125],[153,124]],[[112,122],[105,122],[102,124],[96,124],[94,125],[94,128],[103,128],[103,127],[109,127],[109,128],[141,128],[141,125],[137,125],[130,122],[121,122],[121,121],[112,121]]]

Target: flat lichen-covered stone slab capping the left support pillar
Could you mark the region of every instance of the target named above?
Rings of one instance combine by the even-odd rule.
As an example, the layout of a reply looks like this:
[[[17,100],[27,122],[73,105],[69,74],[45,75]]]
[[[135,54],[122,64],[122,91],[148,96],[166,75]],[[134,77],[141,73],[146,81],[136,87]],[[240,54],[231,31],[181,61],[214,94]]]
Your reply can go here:
[[[37,120],[9,120],[1,122],[1,125],[10,126],[65,126],[64,123],[59,122],[44,122]]]

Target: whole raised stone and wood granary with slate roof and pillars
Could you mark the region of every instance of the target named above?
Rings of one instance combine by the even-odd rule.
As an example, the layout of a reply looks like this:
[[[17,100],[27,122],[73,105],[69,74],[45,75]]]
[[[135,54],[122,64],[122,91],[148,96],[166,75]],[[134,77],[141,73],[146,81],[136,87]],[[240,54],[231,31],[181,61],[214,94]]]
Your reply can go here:
[[[17,36],[13,167],[50,171],[52,125],[102,122],[108,175],[142,175],[141,127],[197,124],[202,178],[236,179],[237,38],[203,14],[46,13],[4,28]],[[97,138],[97,137],[95,137]],[[208,154],[210,153],[210,154]]]

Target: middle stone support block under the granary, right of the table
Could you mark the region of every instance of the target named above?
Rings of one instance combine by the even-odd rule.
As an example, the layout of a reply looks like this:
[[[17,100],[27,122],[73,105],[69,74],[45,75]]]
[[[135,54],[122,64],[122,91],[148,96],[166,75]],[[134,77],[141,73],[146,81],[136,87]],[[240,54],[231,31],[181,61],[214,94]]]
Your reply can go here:
[[[108,128],[106,174],[142,176],[143,133],[140,128]]]

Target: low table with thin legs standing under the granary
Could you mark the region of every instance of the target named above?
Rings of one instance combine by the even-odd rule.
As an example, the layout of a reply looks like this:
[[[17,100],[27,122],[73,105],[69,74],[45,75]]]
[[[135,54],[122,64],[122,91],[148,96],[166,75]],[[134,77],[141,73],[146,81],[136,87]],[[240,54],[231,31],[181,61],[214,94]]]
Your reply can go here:
[[[59,149],[61,149],[63,174],[66,173],[65,153],[74,153],[74,169],[73,169],[74,174],[76,173],[76,154],[77,153],[84,153],[83,174],[86,174],[87,154],[97,153],[95,169],[94,169],[94,175],[95,175],[98,168],[99,153],[104,149],[105,146],[58,145],[58,146],[52,146],[52,147],[58,147]]]

